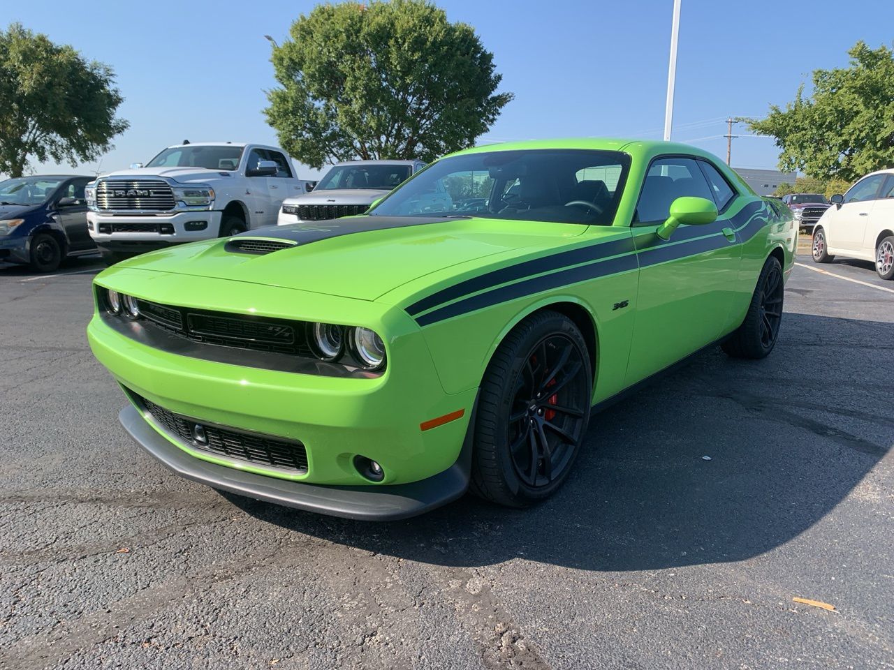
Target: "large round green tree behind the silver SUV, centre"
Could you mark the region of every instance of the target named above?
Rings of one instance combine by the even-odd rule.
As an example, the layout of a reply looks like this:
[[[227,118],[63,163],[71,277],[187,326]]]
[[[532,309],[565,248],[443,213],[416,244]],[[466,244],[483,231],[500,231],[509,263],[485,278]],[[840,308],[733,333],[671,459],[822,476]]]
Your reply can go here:
[[[267,121],[302,163],[421,158],[474,144],[511,93],[493,54],[426,0],[321,4],[275,46]]]

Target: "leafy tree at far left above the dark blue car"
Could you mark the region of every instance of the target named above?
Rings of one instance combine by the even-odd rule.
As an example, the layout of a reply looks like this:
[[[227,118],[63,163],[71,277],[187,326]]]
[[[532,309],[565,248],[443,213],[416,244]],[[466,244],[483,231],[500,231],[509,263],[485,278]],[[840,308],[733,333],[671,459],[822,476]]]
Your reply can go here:
[[[21,176],[30,157],[96,160],[128,127],[114,72],[68,45],[13,23],[0,30],[0,172]]]

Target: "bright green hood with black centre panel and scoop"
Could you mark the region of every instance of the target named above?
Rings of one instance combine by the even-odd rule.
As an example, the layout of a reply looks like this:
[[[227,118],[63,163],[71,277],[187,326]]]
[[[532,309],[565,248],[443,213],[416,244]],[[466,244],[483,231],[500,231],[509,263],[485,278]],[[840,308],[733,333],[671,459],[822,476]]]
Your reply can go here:
[[[353,216],[168,247],[118,266],[375,300],[428,273],[485,256],[558,246],[585,230],[570,223]],[[237,245],[250,239],[293,246],[240,253]]]

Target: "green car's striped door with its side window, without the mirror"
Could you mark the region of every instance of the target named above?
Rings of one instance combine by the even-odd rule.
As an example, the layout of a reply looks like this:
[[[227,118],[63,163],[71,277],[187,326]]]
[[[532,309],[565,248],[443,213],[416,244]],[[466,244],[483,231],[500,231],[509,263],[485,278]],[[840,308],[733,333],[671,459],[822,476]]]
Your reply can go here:
[[[740,196],[713,165],[691,156],[654,159],[634,216],[639,259],[637,317],[626,385],[645,379],[721,337],[738,289],[742,247],[728,213]],[[710,163],[706,163],[710,165]],[[709,184],[705,174],[719,183]],[[720,215],[703,226],[680,225],[664,241],[656,234],[678,197],[713,200]]]

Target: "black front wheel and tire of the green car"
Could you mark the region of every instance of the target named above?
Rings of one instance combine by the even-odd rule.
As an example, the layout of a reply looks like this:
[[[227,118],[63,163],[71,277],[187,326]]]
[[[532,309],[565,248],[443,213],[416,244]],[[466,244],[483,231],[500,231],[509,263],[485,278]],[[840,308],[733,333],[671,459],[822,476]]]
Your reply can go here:
[[[586,342],[574,322],[552,311],[520,322],[494,352],[481,384],[471,490],[507,507],[552,495],[586,435],[592,389]]]

